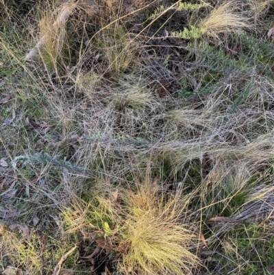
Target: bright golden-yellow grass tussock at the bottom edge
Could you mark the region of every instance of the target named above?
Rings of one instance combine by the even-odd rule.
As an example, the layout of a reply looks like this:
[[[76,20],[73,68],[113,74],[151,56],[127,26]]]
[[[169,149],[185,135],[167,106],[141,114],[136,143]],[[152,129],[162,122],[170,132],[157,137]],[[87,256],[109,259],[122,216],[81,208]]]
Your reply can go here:
[[[130,246],[123,263],[132,269],[137,266],[145,274],[160,270],[166,274],[186,274],[198,263],[187,249],[197,236],[180,222],[178,211],[182,208],[178,209],[176,199],[163,206],[153,196],[142,189],[129,195],[129,216],[125,222],[128,235],[123,241]]]

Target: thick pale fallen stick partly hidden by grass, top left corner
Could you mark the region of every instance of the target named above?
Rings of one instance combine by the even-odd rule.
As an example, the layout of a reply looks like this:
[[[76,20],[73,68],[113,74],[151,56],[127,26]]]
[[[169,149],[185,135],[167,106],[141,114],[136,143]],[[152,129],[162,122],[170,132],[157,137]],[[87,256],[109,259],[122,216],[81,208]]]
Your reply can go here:
[[[73,5],[65,6],[62,11],[60,12],[58,18],[56,19],[56,21],[53,23],[53,27],[55,27],[56,29],[62,24],[64,25],[64,23],[66,23],[66,19],[71,15],[71,13],[75,10],[75,8],[77,8],[77,4],[79,3],[79,0],[76,1]],[[36,54],[38,53],[38,50],[45,45],[47,38],[46,36],[42,36],[42,38],[40,38],[40,40],[38,41],[38,43],[35,45],[35,47],[33,47],[31,49],[31,51],[29,51],[29,53],[27,53],[27,56],[24,58],[25,61],[27,60],[31,60],[34,56],[36,56]]]

